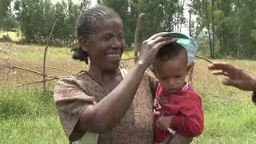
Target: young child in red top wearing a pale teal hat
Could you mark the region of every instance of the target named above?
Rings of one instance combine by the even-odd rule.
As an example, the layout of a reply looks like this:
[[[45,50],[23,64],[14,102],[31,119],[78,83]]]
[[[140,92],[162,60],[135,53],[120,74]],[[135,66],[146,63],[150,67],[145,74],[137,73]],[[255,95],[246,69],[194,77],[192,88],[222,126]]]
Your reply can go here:
[[[151,70],[159,82],[154,98],[156,142],[168,143],[176,133],[186,137],[202,134],[201,98],[186,82],[196,49],[193,39],[174,38],[158,51],[153,62]]]

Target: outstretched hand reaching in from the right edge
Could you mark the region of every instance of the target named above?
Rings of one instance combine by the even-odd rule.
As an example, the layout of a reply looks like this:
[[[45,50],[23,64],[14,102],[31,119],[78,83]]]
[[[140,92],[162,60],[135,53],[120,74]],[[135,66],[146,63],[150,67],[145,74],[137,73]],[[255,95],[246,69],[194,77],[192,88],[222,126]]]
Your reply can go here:
[[[256,79],[225,62],[217,62],[208,66],[209,70],[214,70],[213,74],[225,75],[227,78],[222,81],[226,86],[234,86],[240,90],[256,90]]]

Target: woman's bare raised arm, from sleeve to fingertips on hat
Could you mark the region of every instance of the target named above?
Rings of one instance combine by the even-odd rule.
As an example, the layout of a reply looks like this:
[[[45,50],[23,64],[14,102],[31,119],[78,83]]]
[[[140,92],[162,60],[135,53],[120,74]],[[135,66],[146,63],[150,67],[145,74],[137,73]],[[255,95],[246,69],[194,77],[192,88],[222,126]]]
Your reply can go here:
[[[122,82],[100,102],[83,110],[76,126],[78,130],[102,133],[122,119],[133,101],[147,66],[158,50],[170,42],[170,38],[159,37],[162,34],[164,33],[154,34],[144,41],[138,62],[129,70]]]

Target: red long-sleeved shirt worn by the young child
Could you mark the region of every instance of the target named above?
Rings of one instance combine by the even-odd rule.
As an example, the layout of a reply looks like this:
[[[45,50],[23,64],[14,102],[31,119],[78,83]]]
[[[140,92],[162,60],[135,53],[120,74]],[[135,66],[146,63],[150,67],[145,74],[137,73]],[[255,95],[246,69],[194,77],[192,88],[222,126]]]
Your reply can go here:
[[[154,122],[161,116],[172,116],[171,128],[186,137],[202,134],[204,117],[201,98],[187,85],[178,92],[170,93],[158,84],[154,98]],[[168,136],[167,130],[154,127],[154,140],[162,142]]]

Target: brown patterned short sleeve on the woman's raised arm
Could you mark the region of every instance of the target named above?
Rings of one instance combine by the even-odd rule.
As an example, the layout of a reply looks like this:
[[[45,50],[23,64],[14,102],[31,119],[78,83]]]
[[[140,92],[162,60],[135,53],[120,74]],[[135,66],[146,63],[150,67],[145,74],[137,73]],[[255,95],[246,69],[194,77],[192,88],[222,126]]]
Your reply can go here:
[[[77,137],[74,127],[86,106],[94,103],[94,98],[85,94],[74,79],[66,78],[59,80],[55,86],[54,102],[66,136],[69,139],[70,135]]]

